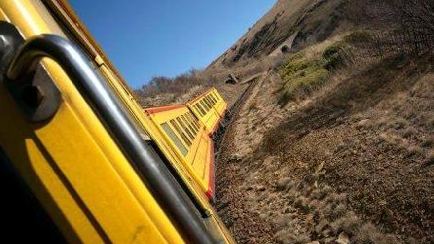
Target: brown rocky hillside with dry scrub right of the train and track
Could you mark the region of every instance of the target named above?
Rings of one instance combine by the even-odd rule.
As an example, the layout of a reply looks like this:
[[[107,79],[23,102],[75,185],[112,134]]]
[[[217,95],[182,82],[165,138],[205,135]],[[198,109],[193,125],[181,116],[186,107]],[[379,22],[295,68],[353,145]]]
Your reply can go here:
[[[217,158],[216,207],[238,242],[434,242],[433,11],[278,1],[210,66],[280,57]]]

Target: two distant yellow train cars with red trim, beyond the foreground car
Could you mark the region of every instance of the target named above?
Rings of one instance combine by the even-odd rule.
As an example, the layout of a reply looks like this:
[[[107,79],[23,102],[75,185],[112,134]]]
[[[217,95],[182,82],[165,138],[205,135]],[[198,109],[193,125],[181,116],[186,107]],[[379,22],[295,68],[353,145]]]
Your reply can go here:
[[[165,158],[175,155],[211,200],[214,199],[214,143],[210,136],[216,132],[227,104],[212,88],[185,105],[172,105],[145,109],[156,130],[149,135],[158,144]]]

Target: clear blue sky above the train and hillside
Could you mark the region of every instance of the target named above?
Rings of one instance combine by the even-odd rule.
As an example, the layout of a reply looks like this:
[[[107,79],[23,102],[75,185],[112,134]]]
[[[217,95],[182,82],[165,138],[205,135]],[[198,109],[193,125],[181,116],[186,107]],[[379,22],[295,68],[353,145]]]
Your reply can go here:
[[[275,0],[69,0],[132,88],[204,68]]]

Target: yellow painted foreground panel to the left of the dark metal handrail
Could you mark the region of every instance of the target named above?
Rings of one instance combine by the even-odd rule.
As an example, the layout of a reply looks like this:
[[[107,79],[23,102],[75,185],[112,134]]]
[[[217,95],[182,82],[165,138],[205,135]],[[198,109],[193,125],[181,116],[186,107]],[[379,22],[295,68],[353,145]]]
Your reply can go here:
[[[34,3],[1,1],[0,18],[25,38],[53,33]],[[7,114],[0,118],[0,144],[61,232],[72,243],[182,243],[71,80],[55,62],[43,65],[62,92],[59,111],[31,124],[0,87],[0,109]]]

